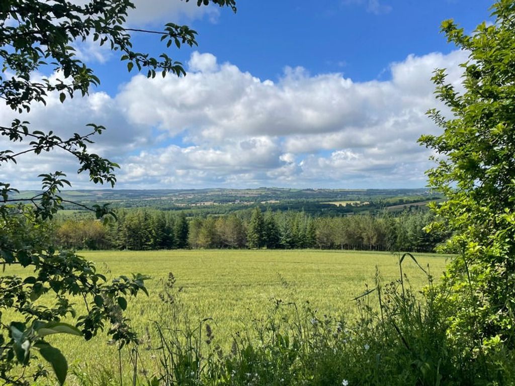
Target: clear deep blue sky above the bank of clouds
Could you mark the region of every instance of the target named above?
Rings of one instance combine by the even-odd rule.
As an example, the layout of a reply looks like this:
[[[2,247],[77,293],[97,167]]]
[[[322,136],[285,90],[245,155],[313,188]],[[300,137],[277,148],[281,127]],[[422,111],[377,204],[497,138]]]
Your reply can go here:
[[[236,14],[223,10],[215,20],[179,13],[173,20],[194,28],[199,46],[172,52],[183,62],[194,50],[210,52],[261,79],[278,80],[285,66],[302,66],[313,75],[339,72],[354,81],[389,79],[392,62],[455,49],[440,33],[443,20],[472,31],[489,20],[491,5],[491,0],[241,0]],[[166,20],[160,16],[144,24],[157,28]],[[142,49],[162,50],[158,39],[137,33],[134,38]],[[115,60],[95,67],[100,89],[110,93],[130,78]],[[112,77],[113,72],[121,73]]]

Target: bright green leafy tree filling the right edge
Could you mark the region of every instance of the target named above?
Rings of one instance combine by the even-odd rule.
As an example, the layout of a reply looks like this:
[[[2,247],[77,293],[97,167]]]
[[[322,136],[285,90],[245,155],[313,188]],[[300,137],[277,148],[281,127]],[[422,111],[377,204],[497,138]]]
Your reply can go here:
[[[452,20],[442,23],[448,40],[469,52],[465,91],[447,82],[444,69],[435,71],[435,93],[452,116],[429,111],[443,133],[420,138],[438,154],[430,184],[448,198],[433,205],[429,230],[454,232],[447,250],[459,254],[444,277],[444,302],[454,336],[475,343],[471,353],[492,342],[515,344],[515,2],[499,0],[492,9],[495,23],[470,36]]]

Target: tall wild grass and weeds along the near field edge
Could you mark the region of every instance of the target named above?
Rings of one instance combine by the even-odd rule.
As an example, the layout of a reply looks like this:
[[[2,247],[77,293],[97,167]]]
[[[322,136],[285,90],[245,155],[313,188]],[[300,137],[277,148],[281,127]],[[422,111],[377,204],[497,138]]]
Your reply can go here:
[[[134,384],[151,385],[487,385],[514,384],[513,353],[481,356],[448,336],[449,312],[428,270],[415,291],[402,274],[355,299],[358,318],[320,313],[310,303],[276,299],[265,318],[235,331],[230,349],[217,342],[212,320],[192,323],[175,288],[166,281],[161,299],[173,315],[156,321],[159,372]]]

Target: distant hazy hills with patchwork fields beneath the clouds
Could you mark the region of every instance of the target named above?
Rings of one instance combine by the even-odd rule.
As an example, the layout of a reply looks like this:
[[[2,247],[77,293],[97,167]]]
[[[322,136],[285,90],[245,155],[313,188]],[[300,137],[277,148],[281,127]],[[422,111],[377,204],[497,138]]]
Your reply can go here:
[[[39,192],[21,191],[12,198],[30,198]],[[223,214],[253,206],[272,210],[304,210],[312,214],[360,213],[411,203],[441,199],[420,189],[94,189],[63,190],[67,201],[92,205],[109,202],[115,208],[149,207],[190,210],[191,213]],[[64,203],[66,209],[80,209]],[[192,212],[193,211],[193,212]]]

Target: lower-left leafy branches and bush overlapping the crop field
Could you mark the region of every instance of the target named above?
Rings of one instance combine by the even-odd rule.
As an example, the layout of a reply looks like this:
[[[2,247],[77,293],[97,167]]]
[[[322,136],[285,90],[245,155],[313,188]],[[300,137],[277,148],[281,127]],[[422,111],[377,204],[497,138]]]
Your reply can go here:
[[[0,277],[0,308],[16,313],[16,319],[7,321],[0,314],[3,381],[25,384],[46,375],[42,367],[30,376],[15,370],[18,365],[29,365],[37,352],[52,365],[59,383],[64,382],[67,363],[60,351],[45,341],[49,334],[72,334],[89,340],[98,330],[108,327],[108,334],[120,346],[135,341],[128,319],[121,311],[127,307],[127,296],[140,290],[146,292],[145,276],[138,274],[132,279],[122,276],[107,283],[92,262],[73,252],[56,251],[52,240],[48,240],[48,223],[39,221],[30,208],[9,213],[2,220],[0,245],[4,265],[31,269],[24,278]],[[55,298],[53,306],[39,301],[47,293]],[[83,297],[87,312],[77,314],[72,295]],[[66,317],[76,320],[76,325],[62,323]]]

